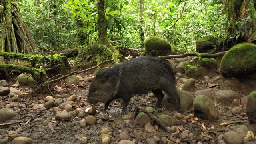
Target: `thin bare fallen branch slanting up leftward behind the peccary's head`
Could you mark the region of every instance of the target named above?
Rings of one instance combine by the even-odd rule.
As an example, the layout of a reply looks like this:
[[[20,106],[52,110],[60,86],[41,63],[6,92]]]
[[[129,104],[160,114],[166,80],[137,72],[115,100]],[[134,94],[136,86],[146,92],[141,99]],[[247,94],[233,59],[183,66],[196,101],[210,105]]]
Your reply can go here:
[[[91,68],[87,68],[86,70],[81,70],[81,71],[78,71],[78,72],[76,72],[76,71],[71,72],[71,73],[69,73],[69,74],[67,74],[67,75],[65,75],[65,76],[62,76],[62,77],[60,77],[60,78],[57,78],[57,79],[55,79],[55,80],[47,81],[47,82],[45,82],[45,83],[43,84],[43,86],[46,86],[46,85],[48,85],[49,83],[57,82],[57,81],[59,81],[59,80],[62,80],[62,79],[64,79],[64,78],[67,78],[67,77],[72,76],[72,75],[74,75],[74,74],[80,74],[80,73],[82,73],[82,72],[86,72],[86,71],[88,71],[88,70],[92,70],[92,69],[94,69],[94,68],[99,67],[99,66],[102,65],[102,64],[105,64],[105,63],[107,63],[107,62],[112,62],[112,61],[114,61],[114,59],[105,60],[105,61],[101,62],[100,64],[97,64],[96,66],[93,66],[93,67],[91,67]]]

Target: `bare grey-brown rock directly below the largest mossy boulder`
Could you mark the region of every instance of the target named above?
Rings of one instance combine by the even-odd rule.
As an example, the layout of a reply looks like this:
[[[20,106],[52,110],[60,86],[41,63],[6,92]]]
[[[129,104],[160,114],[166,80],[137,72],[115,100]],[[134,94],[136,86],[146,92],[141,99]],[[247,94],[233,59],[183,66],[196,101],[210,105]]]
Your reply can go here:
[[[219,90],[216,99],[222,104],[231,104],[234,99],[239,99],[239,94],[233,90]]]

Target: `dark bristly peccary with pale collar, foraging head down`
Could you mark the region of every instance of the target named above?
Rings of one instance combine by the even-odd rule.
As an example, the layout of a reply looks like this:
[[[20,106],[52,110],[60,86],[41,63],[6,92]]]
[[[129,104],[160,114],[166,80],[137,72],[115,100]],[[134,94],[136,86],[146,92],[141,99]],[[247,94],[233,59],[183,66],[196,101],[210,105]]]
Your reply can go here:
[[[160,106],[164,91],[168,95],[168,103],[180,110],[180,97],[175,83],[168,60],[142,56],[98,72],[89,88],[88,103],[104,102],[106,110],[112,100],[122,98],[121,114],[125,114],[132,96],[146,94],[151,90],[158,98],[155,108]]]

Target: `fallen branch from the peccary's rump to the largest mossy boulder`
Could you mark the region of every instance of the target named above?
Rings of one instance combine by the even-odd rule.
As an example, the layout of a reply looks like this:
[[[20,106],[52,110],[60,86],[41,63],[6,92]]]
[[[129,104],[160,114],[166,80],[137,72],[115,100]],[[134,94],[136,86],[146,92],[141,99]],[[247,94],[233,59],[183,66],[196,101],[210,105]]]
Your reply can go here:
[[[218,52],[215,54],[209,54],[209,53],[199,53],[199,52],[186,52],[184,54],[179,54],[179,55],[169,55],[169,56],[159,56],[161,58],[165,58],[165,59],[170,59],[170,58],[183,58],[186,56],[198,56],[201,58],[215,58],[218,56],[223,56],[224,54],[226,54],[227,51],[225,52]]]

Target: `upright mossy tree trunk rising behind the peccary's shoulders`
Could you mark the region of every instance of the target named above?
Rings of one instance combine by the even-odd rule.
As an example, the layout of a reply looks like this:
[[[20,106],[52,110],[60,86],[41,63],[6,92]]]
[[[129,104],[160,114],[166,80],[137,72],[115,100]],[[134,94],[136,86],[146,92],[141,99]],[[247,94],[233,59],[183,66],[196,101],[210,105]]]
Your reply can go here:
[[[97,0],[98,3],[98,26],[99,26],[99,39],[98,44],[110,45],[107,36],[107,24],[105,17],[105,0]]]

